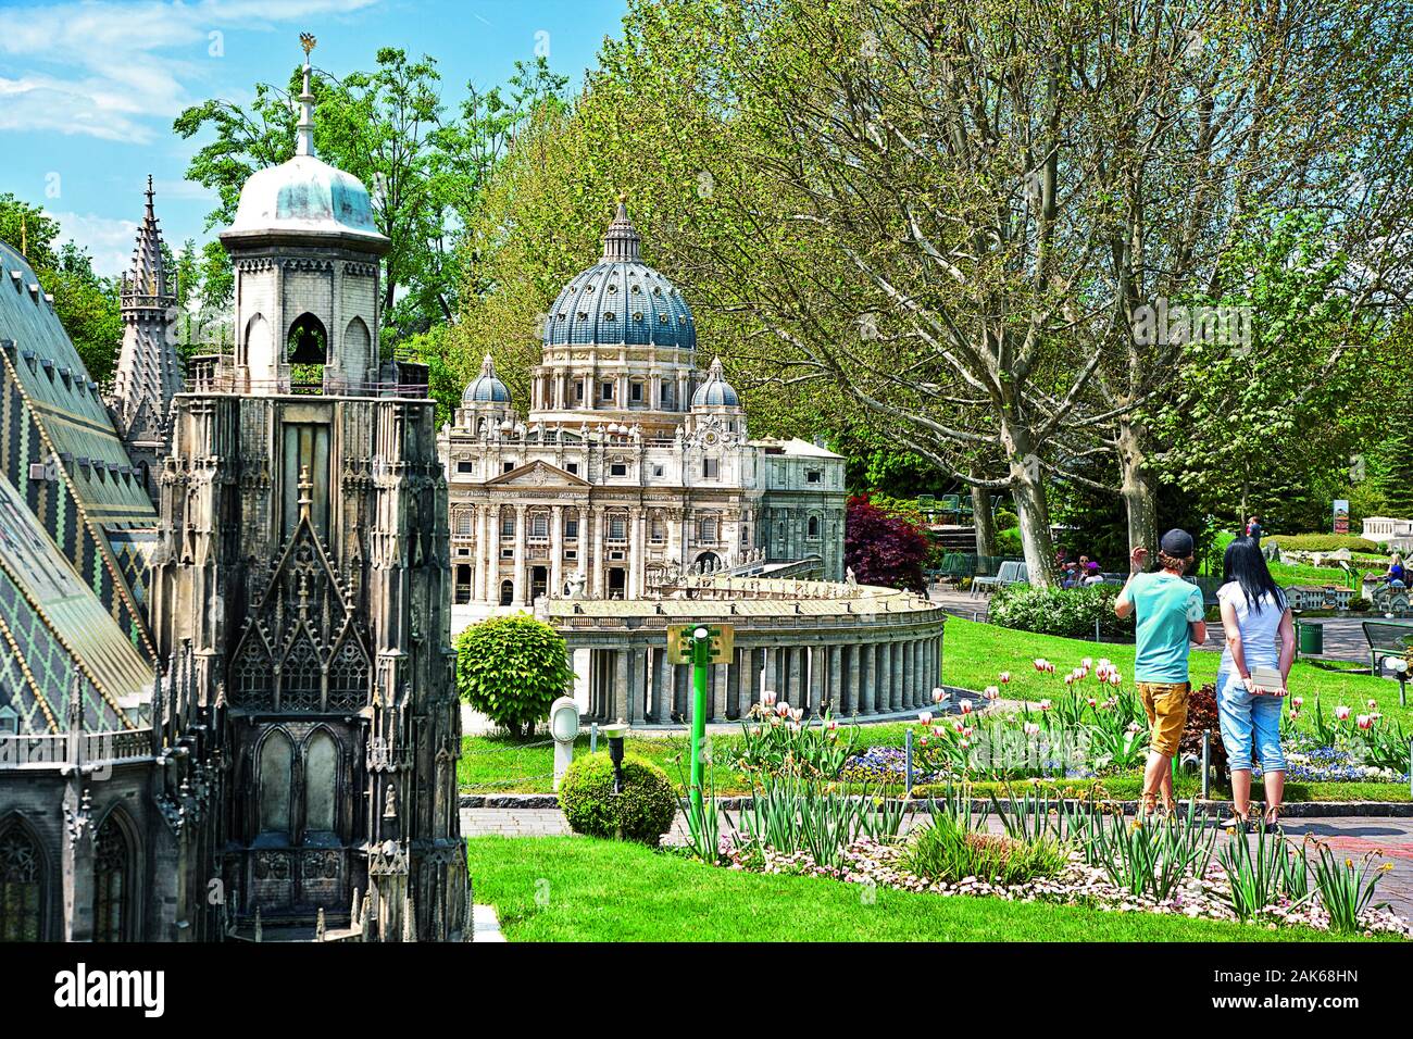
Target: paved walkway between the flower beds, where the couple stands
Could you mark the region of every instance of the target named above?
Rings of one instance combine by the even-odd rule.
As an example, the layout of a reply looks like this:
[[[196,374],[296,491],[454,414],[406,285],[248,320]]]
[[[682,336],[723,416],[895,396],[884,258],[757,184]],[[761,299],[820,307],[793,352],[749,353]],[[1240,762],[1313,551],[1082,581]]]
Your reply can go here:
[[[924,817],[921,813],[906,816],[904,833]],[[738,813],[723,813],[722,831],[733,828],[736,818]],[[992,830],[1000,830],[999,820],[988,823]],[[1382,851],[1383,857],[1376,861],[1392,862],[1393,869],[1379,881],[1378,898],[1400,916],[1413,917],[1413,818],[1290,818],[1284,831],[1294,841],[1313,834],[1355,861],[1369,851]],[[462,809],[461,833],[463,837],[558,837],[571,831],[558,809]],[[687,820],[681,813],[664,840],[668,844],[687,843]],[[1229,838],[1222,834],[1218,840]],[[1255,837],[1251,840],[1255,841]]]

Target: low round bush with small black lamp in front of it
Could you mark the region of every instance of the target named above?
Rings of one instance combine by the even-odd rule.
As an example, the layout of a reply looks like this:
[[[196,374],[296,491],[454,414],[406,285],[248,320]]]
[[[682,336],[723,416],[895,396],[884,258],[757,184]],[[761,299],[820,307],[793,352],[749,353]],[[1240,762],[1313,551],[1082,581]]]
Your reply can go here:
[[[677,794],[666,772],[634,753],[623,756],[623,793],[615,794],[613,761],[586,753],[564,773],[560,807],[577,834],[656,845],[673,826]]]

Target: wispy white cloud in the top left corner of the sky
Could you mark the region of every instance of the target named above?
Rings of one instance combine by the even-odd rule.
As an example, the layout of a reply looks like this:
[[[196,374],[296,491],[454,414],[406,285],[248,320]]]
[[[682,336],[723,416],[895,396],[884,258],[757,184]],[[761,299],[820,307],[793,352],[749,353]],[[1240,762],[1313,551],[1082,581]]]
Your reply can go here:
[[[151,143],[191,98],[212,31],[270,30],[379,0],[62,3],[0,8],[0,131]]]

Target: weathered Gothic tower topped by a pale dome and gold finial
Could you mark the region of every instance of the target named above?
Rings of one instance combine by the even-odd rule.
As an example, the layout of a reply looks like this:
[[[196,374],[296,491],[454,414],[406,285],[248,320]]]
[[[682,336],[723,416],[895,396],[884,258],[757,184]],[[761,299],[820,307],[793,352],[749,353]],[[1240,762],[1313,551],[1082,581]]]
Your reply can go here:
[[[312,40],[307,41],[307,45]],[[192,363],[162,472],[153,626],[223,734],[239,927],[469,937],[447,483],[425,369],[377,365],[389,240],[312,154],[244,185],[222,243],[236,353]],[[418,385],[421,383],[421,385]]]

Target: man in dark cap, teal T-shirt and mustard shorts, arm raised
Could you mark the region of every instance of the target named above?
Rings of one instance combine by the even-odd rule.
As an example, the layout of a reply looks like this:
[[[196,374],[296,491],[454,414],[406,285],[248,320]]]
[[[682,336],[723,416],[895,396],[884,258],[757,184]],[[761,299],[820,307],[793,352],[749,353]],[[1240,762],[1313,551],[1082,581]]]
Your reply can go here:
[[[1193,564],[1193,536],[1186,530],[1163,534],[1157,561],[1160,570],[1146,573],[1147,548],[1129,554],[1129,581],[1113,602],[1119,616],[1137,614],[1137,640],[1133,656],[1133,681],[1147,712],[1147,768],[1143,770],[1143,811],[1152,814],[1157,794],[1163,806],[1177,807],[1173,796],[1173,758],[1187,724],[1188,642],[1207,642],[1202,589],[1183,580]]]

